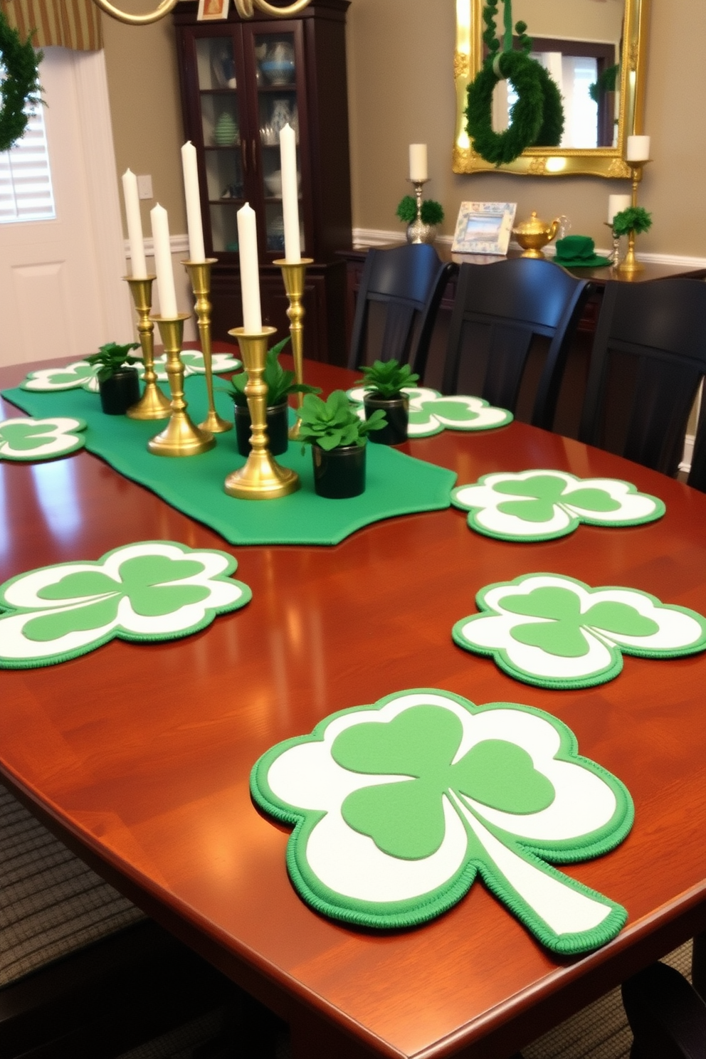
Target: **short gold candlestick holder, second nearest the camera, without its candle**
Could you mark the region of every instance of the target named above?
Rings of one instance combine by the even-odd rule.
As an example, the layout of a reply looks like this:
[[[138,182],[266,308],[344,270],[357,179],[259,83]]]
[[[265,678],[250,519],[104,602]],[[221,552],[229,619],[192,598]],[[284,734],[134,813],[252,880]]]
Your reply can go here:
[[[158,456],[195,456],[206,452],[216,444],[212,433],[195,427],[186,412],[184,400],[184,365],[181,362],[181,341],[184,320],[191,313],[176,317],[151,317],[157,324],[166,353],[166,373],[171,393],[171,415],[164,430],[147,442],[147,448]]]

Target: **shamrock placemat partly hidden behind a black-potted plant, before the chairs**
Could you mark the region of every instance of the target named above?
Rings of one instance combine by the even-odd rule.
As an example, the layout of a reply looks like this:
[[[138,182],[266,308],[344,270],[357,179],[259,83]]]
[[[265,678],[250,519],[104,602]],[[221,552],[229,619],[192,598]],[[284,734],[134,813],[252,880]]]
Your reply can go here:
[[[364,387],[346,391],[348,399],[359,405],[358,414],[363,410]],[[495,408],[481,397],[465,397],[460,394],[443,397],[438,390],[426,387],[404,387],[402,393],[410,397],[410,437],[431,437],[442,430],[493,430],[512,423],[512,413],[504,408]]]

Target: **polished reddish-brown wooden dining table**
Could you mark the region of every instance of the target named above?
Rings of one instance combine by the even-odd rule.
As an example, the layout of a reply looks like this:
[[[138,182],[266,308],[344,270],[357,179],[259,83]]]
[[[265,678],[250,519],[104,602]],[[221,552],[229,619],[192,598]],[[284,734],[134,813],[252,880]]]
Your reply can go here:
[[[26,366],[3,369],[0,383],[16,384]],[[320,364],[308,378],[330,390],[351,376]],[[502,1059],[706,927],[706,657],[627,658],[611,683],[550,692],[451,640],[482,586],[532,571],[633,586],[706,613],[706,496],[517,423],[408,451],[459,482],[531,467],[623,478],[662,497],[667,514],[523,545],[476,536],[449,509],[380,522],[334,548],[231,548],[88,453],[0,465],[0,580],[153,538],[238,559],[252,603],[197,635],[113,641],[58,666],[2,671],[0,775],[106,878],[286,1019],[296,1059]],[[333,711],[419,686],[556,714],[580,752],[627,784],[636,807],[627,841],[565,868],[628,909],[613,943],[557,958],[478,882],[441,918],[400,933],[349,930],[300,900],[288,831],[250,800],[253,762]]]

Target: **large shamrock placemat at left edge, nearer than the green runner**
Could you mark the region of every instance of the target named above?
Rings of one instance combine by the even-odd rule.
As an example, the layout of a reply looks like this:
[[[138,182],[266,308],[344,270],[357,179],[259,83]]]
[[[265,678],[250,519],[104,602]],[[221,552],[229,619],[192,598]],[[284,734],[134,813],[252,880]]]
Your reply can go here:
[[[0,585],[0,667],[54,665],[115,636],[178,640],[252,597],[227,552],[146,540]]]

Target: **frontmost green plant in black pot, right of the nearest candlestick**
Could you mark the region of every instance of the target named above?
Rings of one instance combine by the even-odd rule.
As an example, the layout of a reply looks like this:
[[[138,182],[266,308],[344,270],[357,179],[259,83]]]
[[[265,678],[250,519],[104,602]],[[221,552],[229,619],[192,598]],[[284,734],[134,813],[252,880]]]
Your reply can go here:
[[[320,497],[343,500],[365,489],[365,443],[384,426],[384,412],[361,419],[343,390],[326,400],[307,394],[302,406],[300,439],[311,446],[313,487]]]

